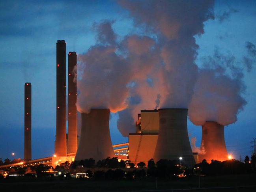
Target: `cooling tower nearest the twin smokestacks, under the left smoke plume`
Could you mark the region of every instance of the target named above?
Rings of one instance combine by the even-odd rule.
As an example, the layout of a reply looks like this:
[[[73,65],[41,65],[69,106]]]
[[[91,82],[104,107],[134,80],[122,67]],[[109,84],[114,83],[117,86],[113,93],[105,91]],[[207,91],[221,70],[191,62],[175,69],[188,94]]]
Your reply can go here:
[[[109,109],[91,109],[82,113],[80,142],[75,160],[93,158],[96,162],[114,157],[109,132]]]

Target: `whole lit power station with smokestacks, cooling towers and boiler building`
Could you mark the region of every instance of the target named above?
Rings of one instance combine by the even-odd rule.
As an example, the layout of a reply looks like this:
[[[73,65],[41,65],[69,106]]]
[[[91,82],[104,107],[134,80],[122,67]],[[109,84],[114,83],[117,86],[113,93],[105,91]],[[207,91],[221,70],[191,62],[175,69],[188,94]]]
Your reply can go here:
[[[194,166],[198,154],[192,153],[187,131],[186,108],[163,108],[141,110],[135,123],[136,132],[129,134],[129,142],[112,145],[109,130],[110,110],[92,108],[90,113],[82,113],[80,142],[77,144],[77,54],[68,53],[68,73],[66,74],[66,43],[56,43],[56,140],[53,157],[48,160],[52,166],[65,161],[107,157],[129,159],[135,165],[151,158],[178,160]],[[66,75],[68,91],[66,93]],[[31,160],[31,83],[24,89],[24,160]],[[68,108],[66,110],[66,96]],[[66,117],[68,120],[66,130]],[[77,147],[78,146],[78,147]],[[126,147],[123,147],[126,146]],[[120,148],[121,147],[121,148]],[[116,149],[113,149],[116,148]],[[202,125],[202,143],[199,161],[226,160],[228,153],[224,140],[224,126],[207,121]]]

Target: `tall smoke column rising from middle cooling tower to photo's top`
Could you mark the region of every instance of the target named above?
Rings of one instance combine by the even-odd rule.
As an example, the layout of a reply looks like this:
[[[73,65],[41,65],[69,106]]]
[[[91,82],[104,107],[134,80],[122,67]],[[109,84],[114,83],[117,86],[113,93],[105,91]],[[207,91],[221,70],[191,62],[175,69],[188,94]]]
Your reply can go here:
[[[160,107],[187,108],[198,73],[194,35],[203,34],[203,23],[214,18],[213,1],[123,0],[120,4],[129,10],[136,26],[157,39],[159,63],[155,65],[159,65],[159,73],[150,75],[153,83],[155,78],[161,80]]]

